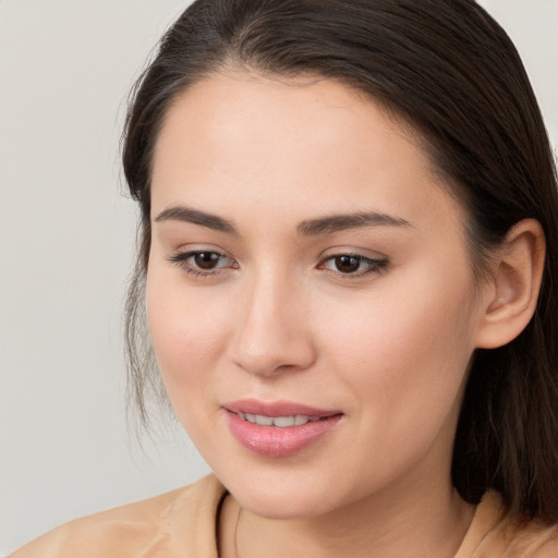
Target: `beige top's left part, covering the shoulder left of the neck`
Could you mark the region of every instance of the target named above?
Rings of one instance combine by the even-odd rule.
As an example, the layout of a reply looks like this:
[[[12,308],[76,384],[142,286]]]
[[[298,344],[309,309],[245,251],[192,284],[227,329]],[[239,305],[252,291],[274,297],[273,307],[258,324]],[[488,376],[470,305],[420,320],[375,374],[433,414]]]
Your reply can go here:
[[[208,475],[190,486],[65,523],[11,558],[213,556],[225,494],[219,481]]]

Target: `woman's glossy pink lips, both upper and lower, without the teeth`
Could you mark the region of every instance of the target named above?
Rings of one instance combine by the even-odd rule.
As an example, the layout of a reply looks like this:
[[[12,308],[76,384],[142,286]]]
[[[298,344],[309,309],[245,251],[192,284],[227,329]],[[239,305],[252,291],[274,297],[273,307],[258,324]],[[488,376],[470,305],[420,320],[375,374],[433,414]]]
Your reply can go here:
[[[316,409],[288,401],[264,403],[246,399],[226,403],[222,407],[228,411],[227,423],[234,438],[253,453],[271,458],[292,456],[306,448],[331,430],[342,417],[342,413],[338,411]],[[236,414],[239,412],[264,416],[319,416],[320,420],[280,428],[248,423]]]

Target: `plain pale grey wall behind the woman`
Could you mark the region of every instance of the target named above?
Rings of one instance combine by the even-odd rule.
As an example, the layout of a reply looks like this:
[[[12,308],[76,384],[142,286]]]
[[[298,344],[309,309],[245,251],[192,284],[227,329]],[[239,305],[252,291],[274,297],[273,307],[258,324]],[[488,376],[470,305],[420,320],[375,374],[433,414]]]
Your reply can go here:
[[[557,145],[557,0],[485,0]],[[72,518],[207,472],[180,429],[124,417],[122,301],[135,208],[124,99],[179,0],[0,0],[0,557]]]

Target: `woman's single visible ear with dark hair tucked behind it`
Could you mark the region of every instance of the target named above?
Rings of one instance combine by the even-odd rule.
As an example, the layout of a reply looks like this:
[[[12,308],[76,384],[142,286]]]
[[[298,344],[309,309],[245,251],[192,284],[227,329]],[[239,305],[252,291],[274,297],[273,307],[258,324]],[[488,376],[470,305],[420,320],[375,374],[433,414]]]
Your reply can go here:
[[[476,348],[502,347],[523,331],[536,308],[545,252],[545,235],[537,220],[524,219],[508,232],[483,287]]]

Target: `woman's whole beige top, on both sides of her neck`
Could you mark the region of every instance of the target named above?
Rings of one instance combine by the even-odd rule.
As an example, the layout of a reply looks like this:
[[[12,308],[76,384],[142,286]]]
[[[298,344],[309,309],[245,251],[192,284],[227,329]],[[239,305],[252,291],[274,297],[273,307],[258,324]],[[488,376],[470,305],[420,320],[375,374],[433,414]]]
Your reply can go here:
[[[225,487],[215,475],[148,500],[77,519],[11,558],[217,558]],[[520,523],[501,498],[478,505],[456,558],[558,558],[558,525]]]

